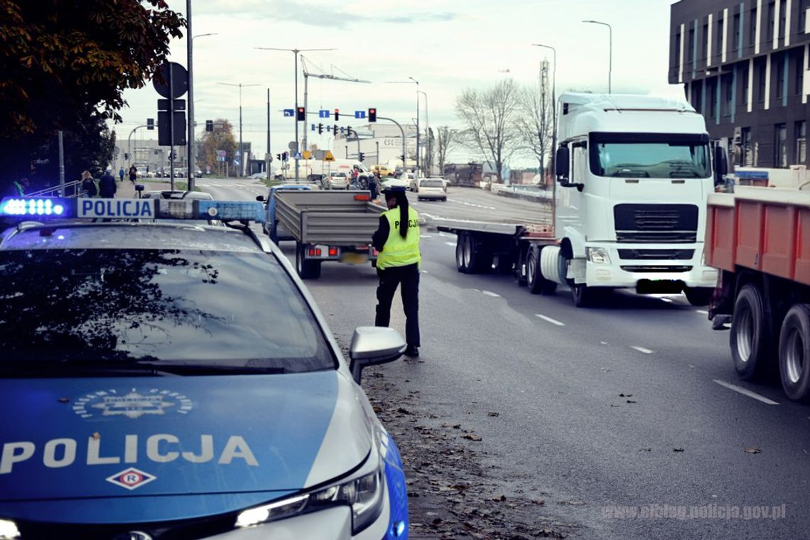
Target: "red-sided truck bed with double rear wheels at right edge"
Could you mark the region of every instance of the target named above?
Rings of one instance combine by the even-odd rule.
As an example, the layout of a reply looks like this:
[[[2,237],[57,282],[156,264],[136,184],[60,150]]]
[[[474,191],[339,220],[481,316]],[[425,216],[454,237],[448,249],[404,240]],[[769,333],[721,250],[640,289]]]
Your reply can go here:
[[[788,398],[810,400],[810,192],[735,188],[708,199],[706,263],[720,270],[709,317],[731,321],[745,381],[778,368]]]

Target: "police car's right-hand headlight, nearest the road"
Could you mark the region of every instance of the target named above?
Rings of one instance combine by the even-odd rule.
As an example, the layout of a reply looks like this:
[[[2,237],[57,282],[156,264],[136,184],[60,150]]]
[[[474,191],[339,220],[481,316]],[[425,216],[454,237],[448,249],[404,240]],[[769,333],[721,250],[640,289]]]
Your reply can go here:
[[[329,487],[248,508],[237,516],[236,526],[252,527],[324,508],[348,505],[352,507],[352,534],[359,533],[382,513],[382,495],[385,491],[382,460],[376,450],[373,454],[374,466],[370,472],[368,467],[363,467],[360,474]],[[5,539],[0,536],[0,540]]]

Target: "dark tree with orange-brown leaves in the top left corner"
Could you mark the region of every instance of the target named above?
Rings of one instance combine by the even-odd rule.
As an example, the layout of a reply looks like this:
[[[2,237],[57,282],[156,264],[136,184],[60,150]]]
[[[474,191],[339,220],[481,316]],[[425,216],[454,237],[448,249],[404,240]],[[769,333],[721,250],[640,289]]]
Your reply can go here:
[[[3,174],[53,184],[59,130],[82,142],[79,154],[96,155],[79,171],[109,161],[104,121],[121,120],[123,91],[151,79],[184,25],[165,0],[0,0]]]

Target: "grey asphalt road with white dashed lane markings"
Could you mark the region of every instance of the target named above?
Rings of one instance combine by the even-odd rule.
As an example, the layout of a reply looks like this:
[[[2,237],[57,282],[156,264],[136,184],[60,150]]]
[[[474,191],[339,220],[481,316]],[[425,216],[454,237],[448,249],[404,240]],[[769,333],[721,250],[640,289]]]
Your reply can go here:
[[[214,184],[200,182],[218,198],[263,189]],[[416,206],[475,219],[514,203],[450,198]],[[577,538],[808,537],[810,409],[737,381],[728,334],[705,312],[681,296],[620,291],[590,309],[567,291],[531,296],[506,276],[458,274],[454,236],[423,232],[423,361],[389,364],[386,379],[474,430],[506,495],[543,494],[539,512],[580,525]],[[307,286],[346,343],[373,321],[376,284],[369,266],[324,265]],[[392,326],[404,330],[399,301]],[[624,517],[650,505],[659,517]]]

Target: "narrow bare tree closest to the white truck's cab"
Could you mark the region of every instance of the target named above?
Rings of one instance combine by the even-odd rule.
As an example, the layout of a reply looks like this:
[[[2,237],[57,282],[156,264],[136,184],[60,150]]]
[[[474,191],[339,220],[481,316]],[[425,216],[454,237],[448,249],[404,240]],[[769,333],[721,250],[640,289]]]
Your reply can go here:
[[[521,151],[539,162],[540,181],[545,182],[545,168],[554,149],[554,105],[548,91],[536,91],[526,87],[520,91],[518,115],[515,126],[518,129],[518,144]]]

